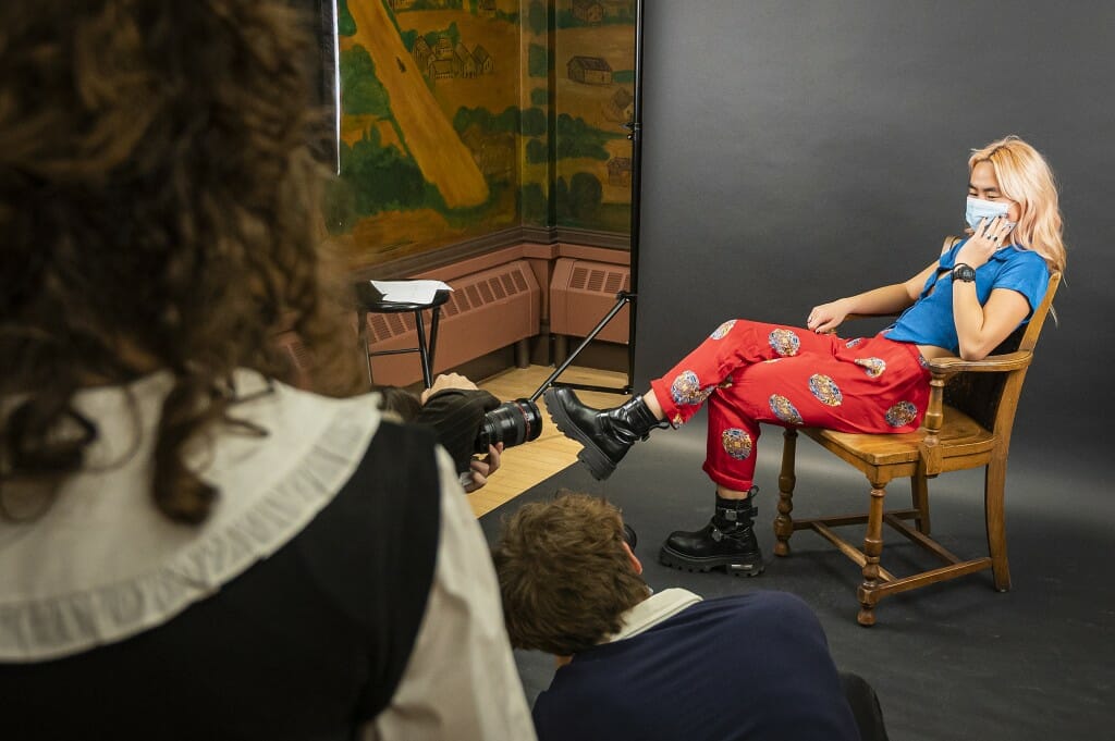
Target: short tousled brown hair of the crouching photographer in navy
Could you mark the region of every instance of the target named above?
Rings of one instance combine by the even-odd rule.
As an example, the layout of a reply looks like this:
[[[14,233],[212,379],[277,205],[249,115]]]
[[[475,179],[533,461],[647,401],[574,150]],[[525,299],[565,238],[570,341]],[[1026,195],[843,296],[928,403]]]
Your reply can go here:
[[[512,645],[569,656],[618,632],[650,596],[623,543],[619,509],[586,494],[559,491],[506,519],[492,557]]]

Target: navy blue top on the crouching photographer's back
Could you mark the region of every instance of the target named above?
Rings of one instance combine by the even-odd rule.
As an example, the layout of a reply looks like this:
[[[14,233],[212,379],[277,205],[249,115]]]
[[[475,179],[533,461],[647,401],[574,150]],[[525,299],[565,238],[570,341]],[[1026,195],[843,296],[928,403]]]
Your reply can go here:
[[[540,741],[859,741],[821,623],[798,597],[699,602],[573,656],[539,695]]]

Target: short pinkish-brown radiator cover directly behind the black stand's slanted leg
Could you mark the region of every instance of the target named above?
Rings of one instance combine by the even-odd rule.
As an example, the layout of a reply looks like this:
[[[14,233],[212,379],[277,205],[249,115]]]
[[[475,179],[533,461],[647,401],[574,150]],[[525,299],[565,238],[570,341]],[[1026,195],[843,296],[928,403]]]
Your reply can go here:
[[[550,331],[585,337],[615,305],[620,291],[631,290],[627,265],[562,257],[554,263],[550,282]],[[627,344],[630,310],[624,306],[598,339]]]

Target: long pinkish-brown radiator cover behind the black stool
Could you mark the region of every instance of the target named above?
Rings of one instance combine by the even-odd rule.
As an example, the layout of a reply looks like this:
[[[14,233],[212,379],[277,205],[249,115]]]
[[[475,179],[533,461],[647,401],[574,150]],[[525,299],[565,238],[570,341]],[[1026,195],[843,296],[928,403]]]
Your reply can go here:
[[[449,281],[453,293],[442,306],[434,372],[459,365],[539,333],[542,290],[526,261],[517,260]],[[430,312],[424,313],[429,334]],[[418,344],[414,314],[368,314],[374,350]],[[371,359],[377,383],[406,386],[421,379],[417,354]]]

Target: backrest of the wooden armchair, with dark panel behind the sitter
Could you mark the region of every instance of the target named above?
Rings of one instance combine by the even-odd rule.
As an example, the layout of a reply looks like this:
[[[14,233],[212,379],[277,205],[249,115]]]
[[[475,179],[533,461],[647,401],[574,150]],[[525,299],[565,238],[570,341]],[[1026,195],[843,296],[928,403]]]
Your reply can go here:
[[[1049,287],[1030,321],[1020,325],[991,353],[993,355],[1034,351],[1041,334],[1041,328],[1049,315],[1054,295],[1060,285],[1060,271],[1049,275]],[[944,388],[944,403],[959,409],[986,429],[1009,441],[1010,426],[1014,423],[1018,397],[1026,379],[1026,368],[1006,373],[958,373]]]

